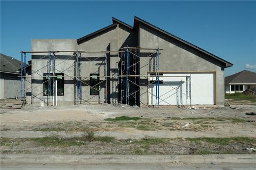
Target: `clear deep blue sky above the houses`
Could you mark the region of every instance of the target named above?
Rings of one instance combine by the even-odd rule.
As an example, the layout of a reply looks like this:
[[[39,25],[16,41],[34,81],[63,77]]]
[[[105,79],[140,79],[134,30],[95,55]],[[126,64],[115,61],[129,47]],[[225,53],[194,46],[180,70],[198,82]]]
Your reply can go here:
[[[134,15],[233,63],[225,75],[256,72],[256,1],[1,1],[1,53],[20,60],[31,39],[78,39]]]

